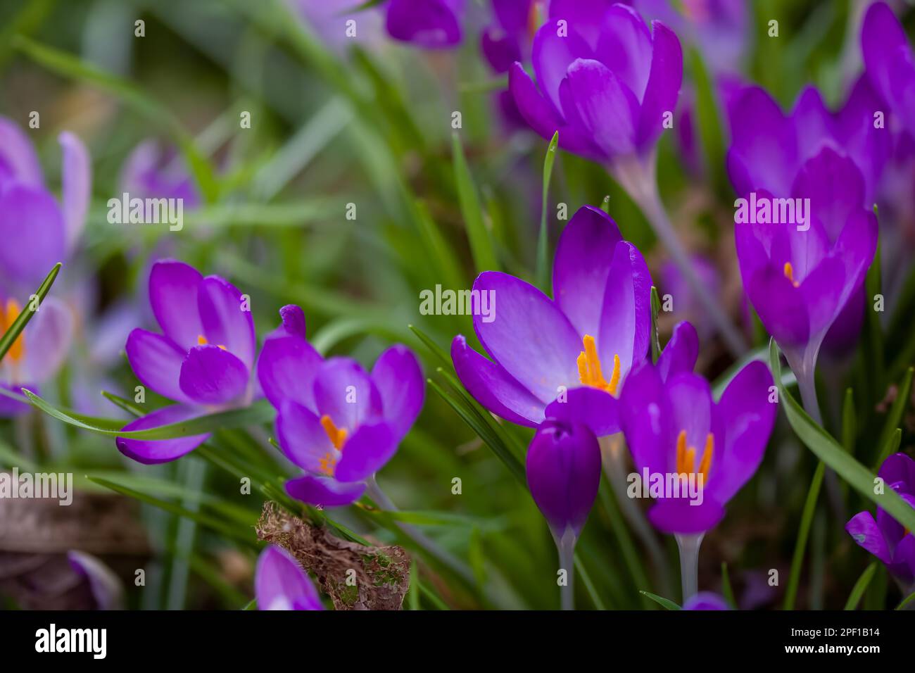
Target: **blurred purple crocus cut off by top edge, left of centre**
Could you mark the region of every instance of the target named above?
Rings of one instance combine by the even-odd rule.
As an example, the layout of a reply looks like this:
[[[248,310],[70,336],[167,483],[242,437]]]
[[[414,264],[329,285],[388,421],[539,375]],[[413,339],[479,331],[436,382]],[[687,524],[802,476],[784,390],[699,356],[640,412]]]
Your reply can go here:
[[[385,27],[402,42],[425,49],[447,49],[463,38],[464,0],[391,0]]]

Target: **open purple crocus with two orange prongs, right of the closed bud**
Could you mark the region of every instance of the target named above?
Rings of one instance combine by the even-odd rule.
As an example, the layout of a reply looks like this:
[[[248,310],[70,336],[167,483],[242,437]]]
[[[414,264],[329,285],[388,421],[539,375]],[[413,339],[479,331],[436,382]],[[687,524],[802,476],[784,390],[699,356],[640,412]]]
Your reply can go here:
[[[753,476],[775,422],[770,403],[772,376],[760,362],[745,366],[716,403],[705,378],[657,367],[630,374],[619,400],[619,416],[640,476],[660,475],[664,493],[648,512],[665,533],[696,534],[716,526],[727,501]],[[679,493],[668,483],[680,475]],[[672,477],[669,479],[668,477]],[[686,481],[697,491],[688,493]]]

